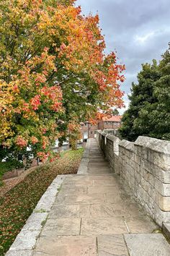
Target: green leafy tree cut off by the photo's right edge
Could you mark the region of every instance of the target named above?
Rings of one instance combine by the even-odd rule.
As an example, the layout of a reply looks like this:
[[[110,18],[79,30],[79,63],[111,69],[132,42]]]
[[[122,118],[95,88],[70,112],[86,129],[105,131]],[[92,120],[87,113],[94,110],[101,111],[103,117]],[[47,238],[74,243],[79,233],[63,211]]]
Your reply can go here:
[[[162,56],[159,70],[161,77],[154,83],[153,90],[157,101],[146,108],[148,120],[153,126],[148,136],[170,140],[170,46]]]

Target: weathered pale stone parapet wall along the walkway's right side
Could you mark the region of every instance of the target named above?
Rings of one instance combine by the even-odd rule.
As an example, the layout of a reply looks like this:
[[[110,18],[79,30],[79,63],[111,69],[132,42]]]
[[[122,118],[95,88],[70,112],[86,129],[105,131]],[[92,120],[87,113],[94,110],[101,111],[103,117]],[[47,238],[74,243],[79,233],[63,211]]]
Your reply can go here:
[[[97,133],[112,170],[160,226],[170,221],[170,142],[138,137],[135,142]]]

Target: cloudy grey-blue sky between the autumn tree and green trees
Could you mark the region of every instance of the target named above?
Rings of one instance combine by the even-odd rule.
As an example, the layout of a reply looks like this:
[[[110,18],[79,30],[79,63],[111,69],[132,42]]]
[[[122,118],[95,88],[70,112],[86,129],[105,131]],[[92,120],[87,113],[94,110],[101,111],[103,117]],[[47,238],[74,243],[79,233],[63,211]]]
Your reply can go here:
[[[141,69],[141,64],[161,59],[170,41],[170,0],[77,0],[82,13],[99,14],[107,53],[117,51],[126,66],[127,94]],[[122,112],[122,111],[121,111]]]

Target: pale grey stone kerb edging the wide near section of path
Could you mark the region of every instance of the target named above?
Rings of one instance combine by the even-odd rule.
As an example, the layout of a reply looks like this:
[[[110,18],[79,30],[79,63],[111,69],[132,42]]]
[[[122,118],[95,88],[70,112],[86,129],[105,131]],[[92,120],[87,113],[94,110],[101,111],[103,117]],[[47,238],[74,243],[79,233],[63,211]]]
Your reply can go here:
[[[60,191],[66,175],[58,175],[50,184],[48,189],[40,198],[35,210],[33,210],[30,217],[27,219],[22,230],[17,235],[9,251],[5,256],[31,256],[37,239],[42,231],[50,209],[55,202],[55,197]]]

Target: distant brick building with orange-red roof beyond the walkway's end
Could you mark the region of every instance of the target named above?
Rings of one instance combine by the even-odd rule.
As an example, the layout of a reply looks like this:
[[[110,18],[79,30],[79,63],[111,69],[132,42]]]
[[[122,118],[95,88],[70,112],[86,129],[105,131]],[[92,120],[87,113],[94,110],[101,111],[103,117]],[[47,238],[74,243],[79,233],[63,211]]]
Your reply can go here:
[[[104,117],[103,120],[98,121],[96,125],[85,121],[81,123],[81,137],[83,140],[94,138],[98,129],[117,131],[121,126],[122,116],[111,116],[110,118]]]

